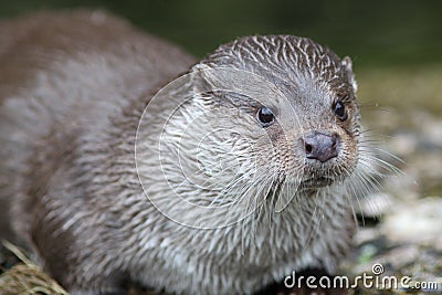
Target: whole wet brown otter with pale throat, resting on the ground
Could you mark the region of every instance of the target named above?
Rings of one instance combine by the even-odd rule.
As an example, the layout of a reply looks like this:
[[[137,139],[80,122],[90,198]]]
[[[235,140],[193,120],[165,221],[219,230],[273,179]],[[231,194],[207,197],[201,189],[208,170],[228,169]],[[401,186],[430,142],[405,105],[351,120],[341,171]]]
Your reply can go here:
[[[370,172],[349,57],[253,35],[197,62],[102,11],[0,32],[3,225],[70,293],[337,271]]]

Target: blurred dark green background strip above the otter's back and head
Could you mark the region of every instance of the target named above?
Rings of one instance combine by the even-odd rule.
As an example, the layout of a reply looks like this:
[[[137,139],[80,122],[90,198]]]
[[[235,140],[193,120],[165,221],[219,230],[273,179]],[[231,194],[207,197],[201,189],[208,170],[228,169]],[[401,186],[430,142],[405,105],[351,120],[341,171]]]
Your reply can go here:
[[[104,8],[197,56],[240,35],[309,36],[357,66],[442,63],[439,0],[14,0],[0,17],[41,9]]]

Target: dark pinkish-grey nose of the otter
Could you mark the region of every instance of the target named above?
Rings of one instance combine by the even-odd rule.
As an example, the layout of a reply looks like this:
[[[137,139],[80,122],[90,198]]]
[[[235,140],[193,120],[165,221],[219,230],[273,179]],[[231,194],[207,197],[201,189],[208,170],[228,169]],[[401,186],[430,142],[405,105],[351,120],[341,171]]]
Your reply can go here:
[[[312,131],[301,138],[305,155],[308,159],[316,159],[320,162],[337,157],[339,152],[339,136],[328,135],[319,131]]]

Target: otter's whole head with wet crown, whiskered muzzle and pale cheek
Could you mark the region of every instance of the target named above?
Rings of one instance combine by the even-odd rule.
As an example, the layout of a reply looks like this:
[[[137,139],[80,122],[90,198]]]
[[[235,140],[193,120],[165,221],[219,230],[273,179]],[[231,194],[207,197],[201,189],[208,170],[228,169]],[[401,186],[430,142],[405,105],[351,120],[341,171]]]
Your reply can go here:
[[[305,38],[248,36],[221,45],[188,76],[189,99],[169,117],[162,140],[177,155],[164,173],[187,201],[230,217],[232,208],[244,215],[265,200],[282,210],[345,181],[357,166],[348,57]]]

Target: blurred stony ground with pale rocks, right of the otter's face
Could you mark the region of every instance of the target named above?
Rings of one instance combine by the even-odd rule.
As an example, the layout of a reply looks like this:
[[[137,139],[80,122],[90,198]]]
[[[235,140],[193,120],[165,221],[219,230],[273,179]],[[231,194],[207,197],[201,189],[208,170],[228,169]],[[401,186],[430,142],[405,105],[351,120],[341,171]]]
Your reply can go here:
[[[382,181],[382,193],[360,202],[368,222],[356,235],[344,273],[372,275],[380,263],[383,276],[410,276],[410,285],[436,282],[438,289],[420,292],[442,293],[441,76],[442,67],[371,70],[359,76],[365,126],[402,162],[394,161],[401,172]]]

